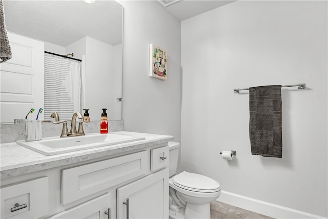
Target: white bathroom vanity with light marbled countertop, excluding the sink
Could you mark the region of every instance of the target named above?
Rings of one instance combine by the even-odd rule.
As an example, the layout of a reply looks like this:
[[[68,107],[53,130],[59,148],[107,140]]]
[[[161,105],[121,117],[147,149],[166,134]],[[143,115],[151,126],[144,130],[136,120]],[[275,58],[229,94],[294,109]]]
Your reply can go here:
[[[172,136],[43,155],[1,145],[1,218],[168,218]]]

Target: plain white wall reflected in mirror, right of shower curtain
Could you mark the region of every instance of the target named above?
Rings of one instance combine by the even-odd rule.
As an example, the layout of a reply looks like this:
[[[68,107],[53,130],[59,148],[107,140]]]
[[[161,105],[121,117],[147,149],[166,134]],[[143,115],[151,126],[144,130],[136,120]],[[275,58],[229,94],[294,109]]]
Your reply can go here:
[[[66,47],[66,53],[82,59],[86,56],[85,104],[92,121],[100,120],[107,108],[109,120],[121,120],[121,45],[111,46],[89,36]]]

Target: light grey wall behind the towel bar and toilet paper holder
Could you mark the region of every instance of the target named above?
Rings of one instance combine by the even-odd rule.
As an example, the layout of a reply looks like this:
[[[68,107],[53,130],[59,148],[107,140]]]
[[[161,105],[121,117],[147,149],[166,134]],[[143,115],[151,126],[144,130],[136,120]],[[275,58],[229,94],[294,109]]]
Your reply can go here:
[[[182,168],[326,217],[327,2],[228,4],[181,23],[181,54]],[[282,88],[282,158],[251,155],[249,92],[233,89],[298,83],[306,89]],[[223,160],[222,150],[237,156]]]

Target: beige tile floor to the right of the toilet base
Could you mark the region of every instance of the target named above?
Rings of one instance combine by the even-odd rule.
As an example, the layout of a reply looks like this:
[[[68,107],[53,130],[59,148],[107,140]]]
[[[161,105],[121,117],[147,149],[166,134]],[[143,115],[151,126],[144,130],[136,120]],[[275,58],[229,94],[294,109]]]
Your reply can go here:
[[[222,202],[211,203],[211,219],[273,219],[272,217],[244,210]]]

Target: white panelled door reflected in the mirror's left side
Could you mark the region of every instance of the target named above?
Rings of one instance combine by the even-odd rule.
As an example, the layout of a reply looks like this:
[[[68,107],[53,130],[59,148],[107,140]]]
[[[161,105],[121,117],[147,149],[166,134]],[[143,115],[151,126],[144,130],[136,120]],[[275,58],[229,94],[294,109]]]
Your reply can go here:
[[[44,43],[13,33],[8,38],[12,58],[0,64],[0,124],[25,118],[31,108],[36,112],[29,119],[35,120],[44,108]]]

